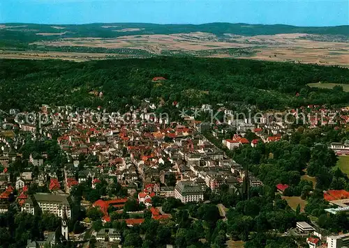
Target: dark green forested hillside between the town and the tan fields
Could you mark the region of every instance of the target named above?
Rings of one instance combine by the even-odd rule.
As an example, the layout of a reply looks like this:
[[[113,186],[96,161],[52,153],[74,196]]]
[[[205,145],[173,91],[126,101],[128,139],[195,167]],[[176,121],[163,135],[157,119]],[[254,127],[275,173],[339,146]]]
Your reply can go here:
[[[164,82],[152,82],[165,77]],[[102,106],[108,110],[161,99],[171,106],[242,101],[259,109],[304,104],[347,104],[349,93],[306,84],[349,84],[349,70],[318,65],[235,59],[156,57],[74,63],[0,61],[0,109],[31,110],[41,104]],[[103,92],[103,98],[91,94]],[[298,94],[297,94],[298,93]]]

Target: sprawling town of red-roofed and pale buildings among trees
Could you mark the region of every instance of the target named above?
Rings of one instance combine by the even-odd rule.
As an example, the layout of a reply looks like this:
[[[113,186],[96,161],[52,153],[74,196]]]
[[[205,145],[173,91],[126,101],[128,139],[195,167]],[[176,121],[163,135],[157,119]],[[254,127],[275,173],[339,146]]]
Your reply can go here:
[[[339,169],[326,178],[315,164],[322,155],[327,167],[346,159],[341,130],[349,109],[309,105],[284,111],[282,121],[270,111],[234,118],[222,105],[186,109],[177,120],[157,117],[149,100],[122,116],[47,104],[34,115],[1,113],[0,222],[12,218],[27,233],[16,244],[28,248],[189,247],[207,240],[224,247],[251,242],[253,223],[301,247],[349,246],[349,233],[328,223],[349,211],[348,178]],[[210,111],[224,118],[205,119]],[[97,120],[98,113],[104,117]],[[301,115],[308,118],[295,125]],[[322,137],[327,145],[314,143]],[[262,150],[269,151],[263,161]],[[267,160],[283,165],[273,171]],[[273,222],[258,214],[263,208],[275,212]],[[1,232],[7,247],[6,233],[13,233]]]

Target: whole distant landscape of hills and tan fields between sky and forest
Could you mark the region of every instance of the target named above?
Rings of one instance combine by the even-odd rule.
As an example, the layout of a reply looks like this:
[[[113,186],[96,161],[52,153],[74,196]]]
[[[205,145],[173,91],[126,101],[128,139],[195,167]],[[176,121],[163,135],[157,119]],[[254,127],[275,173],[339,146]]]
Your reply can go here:
[[[202,56],[348,66],[349,26],[283,24],[0,24],[0,58]]]

